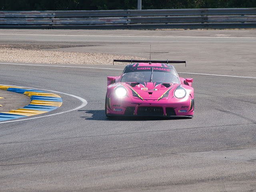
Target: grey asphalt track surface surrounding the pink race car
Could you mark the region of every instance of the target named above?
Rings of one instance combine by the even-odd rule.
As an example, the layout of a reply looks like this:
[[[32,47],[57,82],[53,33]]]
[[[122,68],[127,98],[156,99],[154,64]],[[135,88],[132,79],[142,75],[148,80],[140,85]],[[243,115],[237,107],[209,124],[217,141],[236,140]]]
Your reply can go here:
[[[108,119],[106,76],[124,66],[1,62],[1,85],[52,90],[63,100],[47,114],[0,122],[1,192],[256,191],[256,30],[0,34],[1,44],[143,57],[151,44],[154,60],[187,61],[176,70],[194,79],[195,98],[192,119]]]

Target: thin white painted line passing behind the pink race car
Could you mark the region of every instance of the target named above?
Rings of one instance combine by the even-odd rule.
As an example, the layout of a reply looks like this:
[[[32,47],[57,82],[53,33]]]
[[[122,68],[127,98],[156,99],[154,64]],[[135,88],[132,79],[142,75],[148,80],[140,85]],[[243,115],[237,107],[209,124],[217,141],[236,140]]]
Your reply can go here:
[[[60,66],[60,65],[37,65],[37,64],[18,64],[18,63],[0,63],[0,64],[9,64],[9,65],[30,65],[30,66],[48,66],[48,67],[90,68],[90,69],[109,69],[109,70],[124,70],[124,69],[116,69],[116,68],[77,67],[77,66]],[[244,76],[232,76],[232,75],[217,75],[217,74],[206,74],[206,73],[185,73],[185,72],[178,72],[178,73],[256,79],[256,77],[244,77]]]

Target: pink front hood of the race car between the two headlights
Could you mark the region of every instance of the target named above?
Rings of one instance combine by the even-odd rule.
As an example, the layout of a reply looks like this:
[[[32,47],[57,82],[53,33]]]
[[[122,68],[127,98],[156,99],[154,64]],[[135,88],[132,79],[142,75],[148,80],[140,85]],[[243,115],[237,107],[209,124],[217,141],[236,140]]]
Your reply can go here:
[[[173,95],[174,90],[180,84],[170,83],[127,83],[124,86],[132,94],[132,96],[140,99],[155,100],[167,98],[169,95]]]

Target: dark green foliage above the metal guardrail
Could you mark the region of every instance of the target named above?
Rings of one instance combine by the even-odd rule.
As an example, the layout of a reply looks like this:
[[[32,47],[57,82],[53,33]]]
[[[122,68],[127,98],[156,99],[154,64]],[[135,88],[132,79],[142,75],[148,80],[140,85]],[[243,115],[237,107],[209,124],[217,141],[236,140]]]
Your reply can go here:
[[[142,9],[249,7],[256,7],[256,0],[142,0]],[[137,0],[0,0],[2,11],[126,9],[137,9]]]

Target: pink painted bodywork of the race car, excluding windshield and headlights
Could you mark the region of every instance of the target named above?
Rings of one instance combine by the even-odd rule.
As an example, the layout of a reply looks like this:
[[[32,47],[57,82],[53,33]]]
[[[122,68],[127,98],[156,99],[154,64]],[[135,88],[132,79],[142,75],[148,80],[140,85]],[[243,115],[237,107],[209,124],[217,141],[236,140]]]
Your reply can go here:
[[[140,66],[149,66],[148,63],[139,63]],[[150,64],[153,67],[160,67],[160,63]],[[135,85],[135,82],[120,82],[123,74],[115,77],[108,77],[106,94],[106,115],[127,115],[127,108],[134,109],[128,115],[137,115],[139,107],[162,108],[161,116],[189,116],[194,115],[194,89],[191,87],[192,78],[181,78],[180,84],[168,84],[169,87],[155,82],[145,82]],[[134,86],[135,85],[135,86]],[[184,98],[176,98],[174,91],[178,86],[186,90]],[[114,94],[115,88],[124,86],[127,95],[118,98]],[[134,107],[134,108],[132,108]],[[140,108],[141,110],[141,108]],[[174,114],[175,112],[175,114]],[[154,115],[154,114],[152,114]],[[158,114],[159,116],[159,114]]]

